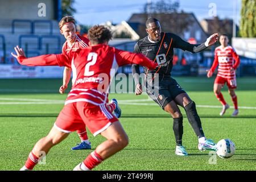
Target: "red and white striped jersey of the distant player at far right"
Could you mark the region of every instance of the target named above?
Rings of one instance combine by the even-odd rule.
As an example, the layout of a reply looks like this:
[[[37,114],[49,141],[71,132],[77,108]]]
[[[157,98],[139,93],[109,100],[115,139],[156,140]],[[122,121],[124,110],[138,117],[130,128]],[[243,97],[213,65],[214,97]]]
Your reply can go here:
[[[234,60],[236,61],[234,63]],[[236,78],[236,72],[231,71],[232,68],[237,69],[240,64],[240,58],[231,46],[227,47],[216,47],[214,52],[214,61],[210,70],[214,72],[218,65],[217,76],[233,79]]]

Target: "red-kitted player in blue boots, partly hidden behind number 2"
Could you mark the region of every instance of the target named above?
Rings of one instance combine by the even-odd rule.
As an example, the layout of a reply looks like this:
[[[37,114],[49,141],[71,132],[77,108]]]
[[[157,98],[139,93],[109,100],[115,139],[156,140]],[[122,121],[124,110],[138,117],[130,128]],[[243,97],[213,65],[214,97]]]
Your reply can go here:
[[[60,34],[64,35],[66,42],[63,44],[62,53],[68,57],[72,57],[73,53],[82,48],[89,47],[89,39],[80,36],[76,32],[75,19],[72,16],[64,16],[59,22]],[[63,94],[68,88],[68,83],[71,78],[72,68],[65,67],[63,72],[63,85],[60,86],[59,92]],[[76,80],[73,76],[72,83]],[[121,109],[118,106],[117,100],[113,99],[107,106],[110,112],[114,111],[116,117],[121,117]],[[91,149],[91,144],[88,139],[86,128],[77,130],[77,134],[81,139],[81,143],[72,147],[71,150]]]

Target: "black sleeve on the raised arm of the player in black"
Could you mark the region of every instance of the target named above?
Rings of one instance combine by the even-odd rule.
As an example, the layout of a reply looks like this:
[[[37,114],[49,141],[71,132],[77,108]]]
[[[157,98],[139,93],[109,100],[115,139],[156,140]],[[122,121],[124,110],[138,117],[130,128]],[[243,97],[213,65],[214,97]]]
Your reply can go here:
[[[179,36],[172,34],[172,37],[174,38],[174,47],[183,49],[183,51],[189,51],[192,53],[201,52],[207,47],[205,44],[190,44],[188,42],[185,42],[185,40],[181,39]]]

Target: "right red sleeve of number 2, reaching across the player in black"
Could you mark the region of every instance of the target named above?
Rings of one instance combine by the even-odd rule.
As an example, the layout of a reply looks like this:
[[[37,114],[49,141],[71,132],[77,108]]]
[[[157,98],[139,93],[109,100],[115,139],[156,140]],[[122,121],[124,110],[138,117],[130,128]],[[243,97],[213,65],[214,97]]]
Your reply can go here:
[[[127,64],[139,64],[143,67],[147,67],[148,69],[155,69],[158,65],[157,63],[154,63],[152,60],[143,56],[141,53],[131,53],[115,49],[115,57],[119,66]]]

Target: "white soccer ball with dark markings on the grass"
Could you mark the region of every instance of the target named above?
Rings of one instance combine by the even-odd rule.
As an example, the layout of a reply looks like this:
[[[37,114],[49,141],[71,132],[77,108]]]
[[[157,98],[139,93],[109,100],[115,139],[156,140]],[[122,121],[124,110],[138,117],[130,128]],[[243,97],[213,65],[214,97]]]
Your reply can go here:
[[[222,159],[231,158],[236,151],[236,146],[230,139],[222,139],[216,144],[216,153]]]

